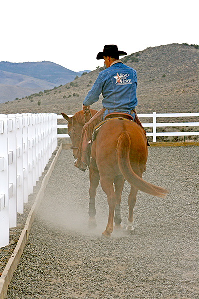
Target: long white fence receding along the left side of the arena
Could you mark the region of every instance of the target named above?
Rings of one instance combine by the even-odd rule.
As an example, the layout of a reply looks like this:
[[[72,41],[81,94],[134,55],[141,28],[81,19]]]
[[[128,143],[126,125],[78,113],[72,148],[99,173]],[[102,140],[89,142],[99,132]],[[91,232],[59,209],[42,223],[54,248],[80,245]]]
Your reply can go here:
[[[56,114],[0,114],[0,247],[56,147]]]

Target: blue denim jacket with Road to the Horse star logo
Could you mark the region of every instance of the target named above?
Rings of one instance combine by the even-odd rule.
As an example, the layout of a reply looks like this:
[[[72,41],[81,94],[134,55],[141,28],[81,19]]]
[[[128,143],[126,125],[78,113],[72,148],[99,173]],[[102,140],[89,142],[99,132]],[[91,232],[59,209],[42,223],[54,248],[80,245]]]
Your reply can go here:
[[[137,73],[122,62],[101,71],[83,104],[91,105],[103,95],[102,105],[113,111],[131,111],[137,105]]]

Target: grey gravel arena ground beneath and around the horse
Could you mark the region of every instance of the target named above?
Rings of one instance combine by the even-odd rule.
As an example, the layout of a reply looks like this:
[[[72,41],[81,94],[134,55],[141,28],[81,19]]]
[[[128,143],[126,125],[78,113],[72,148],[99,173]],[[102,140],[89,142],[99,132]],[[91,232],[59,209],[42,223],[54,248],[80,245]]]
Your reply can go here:
[[[199,147],[149,147],[143,178],[170,190],[138,192],[135,230],[101,237],[108,205],[96,196],[97,228],[88,229],[88,171],[62,150],[10,283],[8,299],[198,299]]]

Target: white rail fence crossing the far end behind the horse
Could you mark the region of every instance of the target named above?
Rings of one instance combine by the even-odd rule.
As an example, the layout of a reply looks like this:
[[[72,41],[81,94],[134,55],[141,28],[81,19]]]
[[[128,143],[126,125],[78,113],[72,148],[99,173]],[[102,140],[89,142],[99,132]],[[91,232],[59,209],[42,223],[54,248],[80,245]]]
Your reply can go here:
[[[69,115],[70,117],[72,115]],[[199,122],[182,122],[182,123],[157,123],[157,118],[171,118],[171,117],[180,117],[180,118],[191,118],[191,117],[199,117],[199,113],[146,113],[146,114],[138,114],[138,117],[141,118],[151,118],[151,123],[142,123],[143,127],[152,127],[153,131],[147,133],[147,136],[153,137],[153,142],[156,142],[157,136],[195,136],[199,135],[199,131],[191,131],[191,132],[157,132],[157,127],[192,127],[199,126]],[[62,115],[58,115],[57,119],[62,119]],[[57,128],[67,128],[68,125],[58,125]],[[65,137],[69,138],[68,134],[58,134],[57,137]]]

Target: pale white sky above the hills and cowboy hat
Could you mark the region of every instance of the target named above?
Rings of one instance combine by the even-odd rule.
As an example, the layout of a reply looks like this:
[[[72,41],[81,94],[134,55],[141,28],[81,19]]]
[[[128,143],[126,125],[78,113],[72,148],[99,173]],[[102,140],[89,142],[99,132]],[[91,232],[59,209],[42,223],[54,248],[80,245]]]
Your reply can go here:
[[[199,45],[197,0],[1,0],[0,61],[51,61],[73,71],[103,66],[105,44],[131,54]]]

